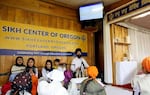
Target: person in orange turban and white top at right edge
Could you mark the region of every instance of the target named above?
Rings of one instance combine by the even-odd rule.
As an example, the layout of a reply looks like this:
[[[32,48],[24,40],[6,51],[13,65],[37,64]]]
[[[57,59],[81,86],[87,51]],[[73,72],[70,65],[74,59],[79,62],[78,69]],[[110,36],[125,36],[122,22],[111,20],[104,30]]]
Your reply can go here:
[[[134,88],[134,95],[150,95],[150,57],[142,61],[143,74],[140,73],[134,77],[131,84]],[[139,91],[139,92],[138,92]]]

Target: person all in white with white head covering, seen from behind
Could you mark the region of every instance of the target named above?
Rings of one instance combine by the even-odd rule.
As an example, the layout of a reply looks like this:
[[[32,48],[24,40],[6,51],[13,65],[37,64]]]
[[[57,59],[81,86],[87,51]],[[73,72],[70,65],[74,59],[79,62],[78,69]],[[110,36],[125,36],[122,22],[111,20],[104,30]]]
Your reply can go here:
[[[48,74],[52,81],[41,81],[38,85],[38,95],[69,95],[63,87],[64,73],[57,69]]]

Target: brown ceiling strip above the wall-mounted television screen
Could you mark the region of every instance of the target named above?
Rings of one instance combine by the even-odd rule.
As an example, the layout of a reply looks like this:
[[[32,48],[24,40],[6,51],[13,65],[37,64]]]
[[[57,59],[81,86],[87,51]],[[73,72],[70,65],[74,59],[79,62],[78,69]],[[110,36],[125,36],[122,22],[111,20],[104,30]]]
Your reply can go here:
[[[51,2],[55,4],[57,3],[57,4],[64,5],[66,7],[77,9],[81,5],[97,3],[97,2],[103,2],[104,6],[107,6],[120,0],[41,0],[41,1]]]

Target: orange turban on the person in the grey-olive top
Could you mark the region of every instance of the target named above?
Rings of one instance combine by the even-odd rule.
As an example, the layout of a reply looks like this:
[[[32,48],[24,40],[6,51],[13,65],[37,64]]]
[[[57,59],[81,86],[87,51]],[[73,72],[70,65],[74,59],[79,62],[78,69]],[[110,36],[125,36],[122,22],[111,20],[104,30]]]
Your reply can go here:
[[[87,73],[92,79],[95,79],[98,75],[98,70],[97,70],[96,66],[89,66],[87,68]]]

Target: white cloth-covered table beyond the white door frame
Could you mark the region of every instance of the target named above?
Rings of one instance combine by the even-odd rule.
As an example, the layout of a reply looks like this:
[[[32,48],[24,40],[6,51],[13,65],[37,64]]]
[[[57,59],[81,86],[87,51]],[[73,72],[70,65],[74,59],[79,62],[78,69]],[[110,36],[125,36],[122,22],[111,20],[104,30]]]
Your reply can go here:
[[[133,76],[136,74],[136,70],[136,61],[116,62],[116,84],[124,85],[130,83]]]

